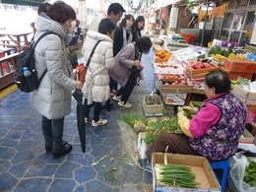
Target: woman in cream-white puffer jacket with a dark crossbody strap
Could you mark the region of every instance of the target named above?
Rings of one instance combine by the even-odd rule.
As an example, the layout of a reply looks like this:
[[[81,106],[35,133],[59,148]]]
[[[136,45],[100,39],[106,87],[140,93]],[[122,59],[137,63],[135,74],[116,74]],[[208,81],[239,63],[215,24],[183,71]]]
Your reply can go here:
[[[106,119],[100,119],[101,103],[110,98],[109,69],[114,67],[113,58],[113,34],[116,24],[110,19],[102,19],[98,26],[98,32],[89,31],[82,48],[85,56],[85,64],[96,45],[95,53],[87,70],[86,83],[82,89],[85,96],[85,121],[88,122],[90,107],[95,105],[93,126],[107,123]]]

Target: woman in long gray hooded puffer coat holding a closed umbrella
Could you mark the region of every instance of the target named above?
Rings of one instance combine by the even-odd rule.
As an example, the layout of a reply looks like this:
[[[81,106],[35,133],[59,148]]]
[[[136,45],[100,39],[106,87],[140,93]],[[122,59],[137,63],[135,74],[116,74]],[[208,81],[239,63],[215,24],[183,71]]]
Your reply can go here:
[[[82,88],[82,82],[70,79],[66,45],[71,22],[76,19],[73,8],[64,2],[54,3],[47,15],[41,13],[35,20],[34,40],[44,36],[34,50],[38,77],[47,69],[39,88],[32,93],[32,102],[42,114],[42,133],[47,154],[58,159],[71,152],[72,146],[63,142],[64,116],[71,112],[71,91]]]

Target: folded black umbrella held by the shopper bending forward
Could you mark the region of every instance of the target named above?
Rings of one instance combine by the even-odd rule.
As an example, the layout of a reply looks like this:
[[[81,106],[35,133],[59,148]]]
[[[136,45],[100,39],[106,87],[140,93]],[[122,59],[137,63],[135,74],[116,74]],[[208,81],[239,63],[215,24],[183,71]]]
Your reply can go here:
[[[142,57],[142,54],[139,52],[139,54],[137,56],[139,61],[141,60],[141,57]],[[121,100],[124,101],[124,104],[127,102],[129,96],[131,96],[132,91],[133,91],[135,85],[137,84],[137,80],[140,77],[142,70],[143,70],[143,68],[141,68],[141,67],[137,67],[137,66],[132,67],[128,82],[125,85],[122,96],[121,96]]]

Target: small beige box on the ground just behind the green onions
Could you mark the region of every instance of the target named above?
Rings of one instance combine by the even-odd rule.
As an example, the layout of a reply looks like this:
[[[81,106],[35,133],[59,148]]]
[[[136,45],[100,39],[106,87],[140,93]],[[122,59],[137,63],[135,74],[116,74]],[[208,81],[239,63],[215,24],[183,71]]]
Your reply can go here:
[[[160,96],[143,96],[143,109],[146,116],[162,116],[163,104]]]

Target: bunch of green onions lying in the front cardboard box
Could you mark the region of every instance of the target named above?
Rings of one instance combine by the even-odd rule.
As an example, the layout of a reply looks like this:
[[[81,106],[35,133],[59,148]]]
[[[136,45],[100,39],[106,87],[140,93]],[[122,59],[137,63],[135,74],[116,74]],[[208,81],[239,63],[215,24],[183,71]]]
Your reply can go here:
[[[181,188],[197,188],[195,174],[191,168],[179,164],[155,164],[157,181],[168,186]]]

